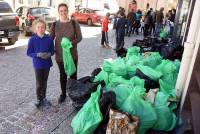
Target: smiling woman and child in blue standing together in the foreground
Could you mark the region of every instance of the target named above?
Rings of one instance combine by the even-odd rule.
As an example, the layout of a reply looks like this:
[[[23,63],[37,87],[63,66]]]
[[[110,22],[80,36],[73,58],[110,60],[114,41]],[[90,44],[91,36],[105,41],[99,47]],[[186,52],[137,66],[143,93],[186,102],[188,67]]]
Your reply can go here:
[[[46,99],[46,89],[49,71],[53,65],[51,56],[54,55],[54,52],[60,71],[61,95],[58,102],[63,103],[66,99],[66,84],[68,76],[65,73],[63,64],[61,48],[61,40],[63,37],[67,37],[72,43],[70,52],[77,70],[77,43],[82,40],[80,26],[75,20],[69,18],[68,6],[65,3],[58,5],[58,14],[59,20],[52,24],[50,35],[45,34],[46,22],[42,19],[35,20],[33,23],[34,35],[28,42],[27,55],[32,58],[36,78],[37,101],[35,105],[37,108],[44,105],[51,105],[51,103]],[[77,79],[77,71],[71,75],[70,78]]]

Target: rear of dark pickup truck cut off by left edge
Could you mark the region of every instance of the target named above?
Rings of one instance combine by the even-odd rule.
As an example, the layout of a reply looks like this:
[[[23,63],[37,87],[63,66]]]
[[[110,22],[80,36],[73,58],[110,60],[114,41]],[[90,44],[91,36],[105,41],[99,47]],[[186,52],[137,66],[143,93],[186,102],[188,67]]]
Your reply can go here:
[[[8,39],[10,45],[18,40],[19,18],[6,1],[0,1],[0,42]]]

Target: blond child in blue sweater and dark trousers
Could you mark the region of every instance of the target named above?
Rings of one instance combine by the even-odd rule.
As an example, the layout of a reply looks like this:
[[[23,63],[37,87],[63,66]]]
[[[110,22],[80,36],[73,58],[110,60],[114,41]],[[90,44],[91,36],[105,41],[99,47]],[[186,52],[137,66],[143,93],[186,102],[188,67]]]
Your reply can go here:
[[[29,39],[27,55],[33,60],[36,77],[37,108],[44,105],[51,105],[46,100],[47,79],[50,67],[53,65],[51,56],[54,54],[53,38],[45,34],[46,22],[37,19],[33,22],[35,34]]]

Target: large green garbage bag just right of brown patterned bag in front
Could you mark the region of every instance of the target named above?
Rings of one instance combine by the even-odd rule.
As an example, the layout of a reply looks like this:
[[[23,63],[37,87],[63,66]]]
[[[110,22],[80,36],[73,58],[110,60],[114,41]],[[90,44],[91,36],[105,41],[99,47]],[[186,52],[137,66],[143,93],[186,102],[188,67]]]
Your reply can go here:
[[[145,134],[157,121],[157,115],[152,104],[144,100],[145,89],[134,88],[122,104],[120,110],[139,117],[138,134]]]

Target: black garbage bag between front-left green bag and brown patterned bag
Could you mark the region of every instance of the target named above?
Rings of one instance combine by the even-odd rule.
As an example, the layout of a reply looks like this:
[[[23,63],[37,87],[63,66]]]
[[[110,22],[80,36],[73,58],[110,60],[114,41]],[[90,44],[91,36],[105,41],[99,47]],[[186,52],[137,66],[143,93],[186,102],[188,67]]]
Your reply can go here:
[[[109,122],[109,111],[116,105],[116,95],[113,91],[102,94],[99,102],[99,107],[103,115],[103,121],[99,124],[94,134],[106,134],[107,125]]]

